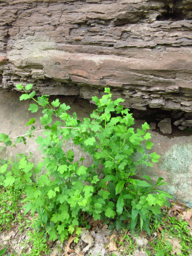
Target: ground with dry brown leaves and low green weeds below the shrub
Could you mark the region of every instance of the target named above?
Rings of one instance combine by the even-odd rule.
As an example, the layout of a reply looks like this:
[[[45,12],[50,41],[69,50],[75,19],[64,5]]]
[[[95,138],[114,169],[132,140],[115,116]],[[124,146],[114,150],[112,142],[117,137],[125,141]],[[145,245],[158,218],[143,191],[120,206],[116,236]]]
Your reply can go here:
[[[192,255],[192,209],[178,200],[172,207],[162,207],[162,220],[153,221],[151,234],[129,230],[109,230],[104,220],[87,217],[87,229],[82,227],[78,243],[75,233],[68,240],[49,240],[46,230],[36,232],[32,224],[37,217],[24,215],[20,191],[1,187],[0,194],[0,255],[51,256],[166,256]]]

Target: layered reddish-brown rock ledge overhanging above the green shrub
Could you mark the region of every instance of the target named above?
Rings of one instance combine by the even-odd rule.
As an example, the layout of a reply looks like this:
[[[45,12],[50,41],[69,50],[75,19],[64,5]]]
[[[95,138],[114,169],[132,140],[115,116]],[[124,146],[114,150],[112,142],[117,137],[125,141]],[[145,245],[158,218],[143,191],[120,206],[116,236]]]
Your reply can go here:
[[[0,0],[0,87],[192,111],[192,0]]]

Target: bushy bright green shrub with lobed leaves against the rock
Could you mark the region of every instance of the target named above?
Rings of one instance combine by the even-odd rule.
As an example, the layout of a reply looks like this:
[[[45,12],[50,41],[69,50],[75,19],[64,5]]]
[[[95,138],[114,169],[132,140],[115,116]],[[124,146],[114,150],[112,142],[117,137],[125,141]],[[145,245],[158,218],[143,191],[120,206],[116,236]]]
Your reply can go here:
[[[172,197],[157,189],[166,184],[163,178],[152,185],[149,176],[144,175],[145,180],[132,177],[138,165],[152,167],[152,162],[158,162],[160,157],[155,152],[144,153],[145,148],[153,146],[151,134],[147,132],[149,125],[144,123],[142,129],[134,131],[132,114],[121,105],[123,99],[111,99],[110,88],[105,88],[106,94],[101,99],[92,97],[97,109],[90,118],[80,121],[76,113],[67,113],[70,106],[61,104],[59,99],[50,103],[48,95],[34,98],[36,92],[29,93],[32,84],[16,87],[24,91],[20,100],[34,100],[28,110],[35,113],[42,109],[43,136],[35,141],[44,157],[36,166],[24,154],[18,154],[14,161],[9,158],[0,168],[0,182],[5,187],[24,187],[24,213],[31,211],[34,215],[38,212],[36,228],[45,226],[50,240],[63,241],[75,232],[77,242],[82,216],[87,214],[108,223],[113,219],[111,228],[117,230],[127,226],[133,233],[135,227],[139,227],[150,234],[150,219],[153,215],[160,218],[160,207],[169,206],[165,197]],[[53,122],[53,115],[57,121]],[[26,124],[31,125],[26,136],[34,136],[34,123],[32,118]],[[72,150],[64,151],[70,138],[90,154],[91,166],[83,165],[84,158],[74,161]],[[18,136],[15,143],[22,140],[26,143],[25,135]],[[12,144],[11,138],[4,133],[0,141],[4,141],[5,146]],[[135,154],[140,154],[137,160],[133,160]],[[103,166],[102,178],[97,173],[99,164]],[[128,219],[130,221],[126,222]]]

